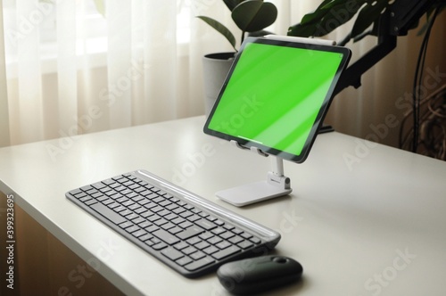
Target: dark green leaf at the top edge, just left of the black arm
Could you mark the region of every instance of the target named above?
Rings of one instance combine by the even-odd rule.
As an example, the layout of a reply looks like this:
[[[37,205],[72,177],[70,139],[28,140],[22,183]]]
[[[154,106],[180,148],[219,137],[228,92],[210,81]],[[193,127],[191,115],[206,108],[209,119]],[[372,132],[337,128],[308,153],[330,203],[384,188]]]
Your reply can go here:
[[[362,7],[362,9],[359,11],[358,19],[355,21],[353,29],[351,29],[351,36],[357,37],[368,29],[368,27],[378,20],[387,5],[387,0],[381,0],[372,1],[372,4],[367,3],[364,7]]]

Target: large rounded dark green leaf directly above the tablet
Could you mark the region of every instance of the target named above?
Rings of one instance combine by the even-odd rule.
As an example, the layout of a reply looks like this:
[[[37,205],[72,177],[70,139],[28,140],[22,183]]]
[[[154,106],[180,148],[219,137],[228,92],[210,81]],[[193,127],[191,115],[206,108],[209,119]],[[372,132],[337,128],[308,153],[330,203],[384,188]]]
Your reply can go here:
[[[239,29],[254,32],[265,29],[276,21],[277,8],[262,0],[247,0],[238,4],[231,16]]]

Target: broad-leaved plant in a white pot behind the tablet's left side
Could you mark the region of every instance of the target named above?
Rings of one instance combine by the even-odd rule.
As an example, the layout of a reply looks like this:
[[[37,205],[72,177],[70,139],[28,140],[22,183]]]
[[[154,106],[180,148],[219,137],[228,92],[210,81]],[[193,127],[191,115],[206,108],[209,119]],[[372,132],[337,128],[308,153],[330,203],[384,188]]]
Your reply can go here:
[[[223,0],[223,2],[231,12],[231,18],[235,25],[241,30],[241,43],[243,43],[246,34],[250,34],[250,36],[268,34],[263,29],[273,24],[277,19],[276,6],[263,0]],[[226,37],[234,48],[234,52],[210,53],[203,58],[205,111],[208,115],[238,50],[234,34],[225,25],[206,16],[198,16],[197,18],[205,21]]]

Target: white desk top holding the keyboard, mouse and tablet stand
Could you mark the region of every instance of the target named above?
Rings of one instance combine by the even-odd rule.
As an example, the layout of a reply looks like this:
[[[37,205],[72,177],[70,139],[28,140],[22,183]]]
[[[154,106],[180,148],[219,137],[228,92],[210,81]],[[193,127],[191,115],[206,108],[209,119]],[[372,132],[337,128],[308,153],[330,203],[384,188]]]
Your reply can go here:
[[[320,135],[305,163],[285,161],[290,196],[238,209],[214,193],[263,180],[269,160],[204,135],[203,123],[202,117],[181,119],[3,148],[0,190],[13,193],[30,216],[127,294],[226,294],[215,275],[178,275],[64,196],[134,169],[181,182],[279,231],[277,253],[299,260],[304,277],[275,295],[446,292],[445,162],[368,147],[338,133]],[[52,159],[50,145],[63,153]]]

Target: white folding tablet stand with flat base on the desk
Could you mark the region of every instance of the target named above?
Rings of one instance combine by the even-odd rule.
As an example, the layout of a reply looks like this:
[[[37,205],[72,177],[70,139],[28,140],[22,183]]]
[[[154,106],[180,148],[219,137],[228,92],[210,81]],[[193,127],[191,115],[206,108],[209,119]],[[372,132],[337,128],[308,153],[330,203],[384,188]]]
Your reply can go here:
[[[231,141],[231,144],[235,144],[236,147],[241,149],[249,149],[261,156],[269,156],[271,158],[271,170],[268,171],[266,181],[255,182],[219,191],[216,195],[220,200],[227,201],[236,207],[243,207],[254,202],[266,201],[278,196],[284,196],[293,191],[290,185],[290,178],[284,176],[284,160],[262,152],[256,147],[251,147],[250,149],[235,141]]]

